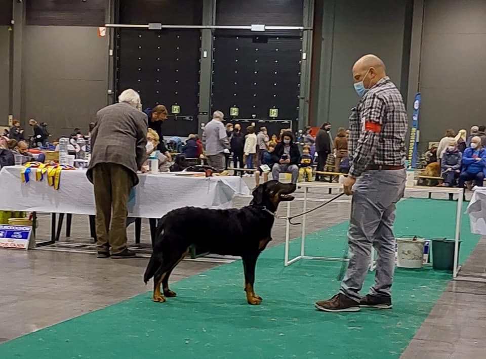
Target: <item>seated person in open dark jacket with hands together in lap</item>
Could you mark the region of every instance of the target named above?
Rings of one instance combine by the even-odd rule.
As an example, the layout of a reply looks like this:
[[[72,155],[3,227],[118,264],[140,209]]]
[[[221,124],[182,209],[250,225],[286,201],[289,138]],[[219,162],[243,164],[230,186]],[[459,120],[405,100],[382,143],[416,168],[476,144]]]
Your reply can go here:
[[[296,184],[299,178],[299,147],[293,143],[292,132],[282,133],[280,142],[273,151],[272,177],[278,181],[279,173],[292,173],[292,183]]]

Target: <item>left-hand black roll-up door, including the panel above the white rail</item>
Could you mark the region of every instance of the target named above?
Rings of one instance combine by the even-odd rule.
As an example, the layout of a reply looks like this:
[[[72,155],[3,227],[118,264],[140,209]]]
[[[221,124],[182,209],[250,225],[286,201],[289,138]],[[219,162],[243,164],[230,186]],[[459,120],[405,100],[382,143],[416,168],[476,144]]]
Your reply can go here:
[[[201,16],[199,0],[123,0],[119,9],[119,21],[123,24],[197,25]],[[198,29],[118,28],[116,93],[134,88],[140,93],[144,108],[165,105],[169,119],[164,123],[164,134],[197,133],[199,49]]]

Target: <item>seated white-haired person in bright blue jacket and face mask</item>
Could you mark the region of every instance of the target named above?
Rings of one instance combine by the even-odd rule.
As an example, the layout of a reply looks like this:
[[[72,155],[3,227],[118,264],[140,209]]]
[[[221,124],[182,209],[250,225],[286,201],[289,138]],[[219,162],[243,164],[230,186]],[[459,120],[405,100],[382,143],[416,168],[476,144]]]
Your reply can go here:
[[[475,136],[471,140],[471,147],[464,151],[462,157],[459,187],[464,188],[466,181],[474,181],[476,186],[482,187],[484,174],[486,174],[486,150],[481,146],[481,138]]]

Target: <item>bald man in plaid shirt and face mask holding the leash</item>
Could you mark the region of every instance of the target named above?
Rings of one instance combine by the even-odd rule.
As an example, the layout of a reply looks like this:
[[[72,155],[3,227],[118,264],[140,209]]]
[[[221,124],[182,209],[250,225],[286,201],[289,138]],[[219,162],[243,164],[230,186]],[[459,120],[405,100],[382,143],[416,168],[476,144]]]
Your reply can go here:
[[[406,172],[407,113],[398,88],[375,55],[353,66],[354,88],[362,97],[349,118],[351,168],[344,192],[353,195],[348,231],[349,266],[338,294],[315,303],[323,311],[389,309],[395,268],[396,202],[403,196]],[[373,247],[378,252],[375,284],[365,297],[365,281]]]

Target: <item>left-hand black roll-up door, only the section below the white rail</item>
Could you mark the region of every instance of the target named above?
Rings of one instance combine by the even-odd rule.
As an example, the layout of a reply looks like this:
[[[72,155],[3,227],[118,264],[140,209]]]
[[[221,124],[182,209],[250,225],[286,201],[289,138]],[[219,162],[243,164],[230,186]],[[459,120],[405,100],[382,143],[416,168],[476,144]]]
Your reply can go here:
[[[169,111],[164,132],[187,136],[197,132],[199,31],[119,29],[118,92],[134,88],[144,107],[163,104]],[[175,111],[180,113],[173,114]]]

